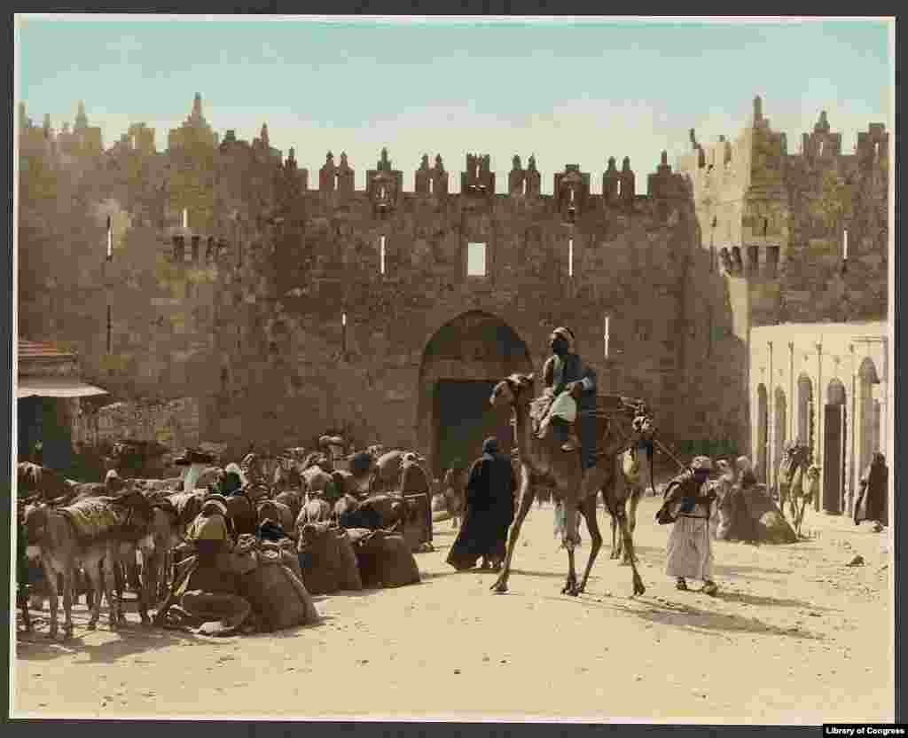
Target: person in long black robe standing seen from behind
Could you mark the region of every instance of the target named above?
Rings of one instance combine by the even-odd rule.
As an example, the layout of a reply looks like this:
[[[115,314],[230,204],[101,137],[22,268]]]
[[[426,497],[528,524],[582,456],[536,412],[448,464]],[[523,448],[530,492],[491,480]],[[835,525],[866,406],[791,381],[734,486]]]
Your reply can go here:
[[[470,467],[463,524],[448,554],[458,571],[472,569],[479,558],[483,568],[498,569],[504,561],[508,527],[514,520],[517,475],[508,456],[498,454],[498,441],[487,438],[482,456]]]

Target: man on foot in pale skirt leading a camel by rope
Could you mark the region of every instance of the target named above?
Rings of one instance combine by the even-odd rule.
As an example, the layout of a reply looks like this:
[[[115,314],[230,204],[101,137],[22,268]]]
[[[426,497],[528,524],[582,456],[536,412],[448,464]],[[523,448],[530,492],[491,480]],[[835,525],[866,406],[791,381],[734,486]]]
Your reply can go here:
[[[704,485],[713,470],[708,456],[696,456],[690,468],[666,486],[664,502],[656,513],[659,524],[674,523],[668,536],[666,574],[675,577],[676,589],[686,592],[688,579],[703,581],[705,594],[716,594],[709,517],[716,492]]]

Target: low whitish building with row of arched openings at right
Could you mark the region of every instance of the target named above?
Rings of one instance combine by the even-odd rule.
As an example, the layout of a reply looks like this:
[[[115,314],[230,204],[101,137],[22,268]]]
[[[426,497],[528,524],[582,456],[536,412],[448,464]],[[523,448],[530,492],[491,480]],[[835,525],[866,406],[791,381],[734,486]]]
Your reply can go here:
[[[775,486],[785,442],[799,439],[823,467],[816,509],[851,512],[873,452],[892,464],[889,341],[885,322],[751,329],[751,453],[761,481]]]

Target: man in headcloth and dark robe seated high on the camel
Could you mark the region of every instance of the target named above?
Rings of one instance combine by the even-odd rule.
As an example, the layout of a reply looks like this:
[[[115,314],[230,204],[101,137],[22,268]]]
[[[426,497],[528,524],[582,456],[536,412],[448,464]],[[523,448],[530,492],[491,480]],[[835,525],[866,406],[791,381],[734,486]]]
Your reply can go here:
[[[542,378],[544,386],[556,399],[549,411],[548,423],[556,438],[563,441],[562,451],[582,450],[586,469],[596,464],[596,371],[585,365],[576,353],[574,334],[568,328],[552,331],[549,343],[552,355],[542,367]],[[573,421],[569,419],[571,403],[568,397],[573,399],[576,408],[576,420]]]

